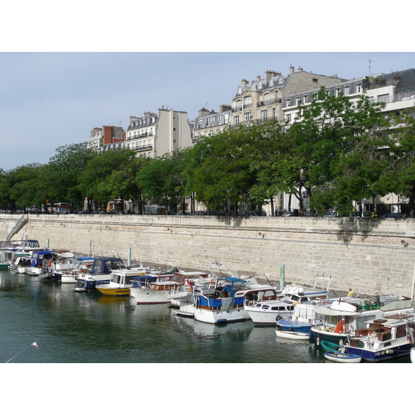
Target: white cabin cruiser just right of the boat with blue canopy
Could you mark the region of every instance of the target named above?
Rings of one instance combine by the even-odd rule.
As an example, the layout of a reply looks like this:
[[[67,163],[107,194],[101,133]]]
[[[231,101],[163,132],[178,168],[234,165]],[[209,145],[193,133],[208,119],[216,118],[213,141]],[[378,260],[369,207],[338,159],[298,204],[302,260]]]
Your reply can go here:
[[[317,288],[319,279],[328,281],[325,290]],[[313,303],[328,299],[330,282],[331,277],[323,278],[317,276],[313,288],[291,284],[286,286],[273,299],[247,299],[244,307],[255,324],[273,325],[277,320],[288,320],[289,317],[293,316],[294,308],[299,303]]]

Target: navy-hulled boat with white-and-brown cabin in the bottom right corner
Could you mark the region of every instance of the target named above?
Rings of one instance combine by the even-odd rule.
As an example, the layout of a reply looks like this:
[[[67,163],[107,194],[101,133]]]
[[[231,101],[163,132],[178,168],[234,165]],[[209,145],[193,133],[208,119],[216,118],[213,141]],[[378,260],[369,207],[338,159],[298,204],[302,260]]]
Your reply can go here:
[[[415,314],[395,313],[368,320],[365,327],[357,329],[346,344],[347,353],[362,360],[382,362],[410,354],[408,330],[414,329]]]

